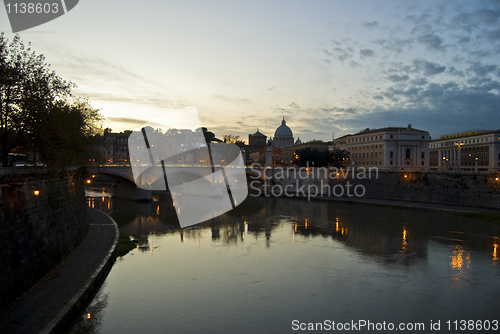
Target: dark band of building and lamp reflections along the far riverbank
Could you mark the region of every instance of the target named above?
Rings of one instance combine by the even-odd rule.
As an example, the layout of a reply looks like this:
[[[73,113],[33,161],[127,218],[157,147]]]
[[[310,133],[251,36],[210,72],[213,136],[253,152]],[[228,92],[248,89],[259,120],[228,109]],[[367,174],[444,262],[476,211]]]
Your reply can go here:
[[[143,237],[179,233],[180,241],[185,243],[189,239],[199,240],[200,229],[210,228],[213,242],[236,245],[249,236],[264,237],[266,247],[271,247],[273,231],[283,221],[291,220],[292,239],[295,234],[307,238],[330,237],[386,263],[410,265],[417,259],[425,261],[429,240],[453,247],[450,254],[453,269],[469,268],[471,256],[464,247],[493,250],[493,264],[498,261],[497,226],[451,215],[297,199],[249,198],[221,217],[181,229],[168,195],[159,194],[151,203],[137,203],[114,198],[112,193],[110,188],[90,188],[87,204],[110,214],[122,232]],[[95,195],[98,197],[91,197]]]

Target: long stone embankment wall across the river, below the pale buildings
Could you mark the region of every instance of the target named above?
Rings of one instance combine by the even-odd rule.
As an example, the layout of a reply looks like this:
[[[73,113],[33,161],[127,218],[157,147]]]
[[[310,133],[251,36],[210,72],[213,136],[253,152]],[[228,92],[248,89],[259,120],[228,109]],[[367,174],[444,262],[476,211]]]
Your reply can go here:
[[[305,192],[308,196],[309,192],[311,198],[320,196],[323,188],[323,195],[327,196],[329,192],[332,197],[363,194],[360,197],[500,209],[500,173],[377,172],[376,169],[371,172],[366,169],[366,173],[359,169],[355,173],[353,169],[338,172],[337,176],[335,169],[328,172],[312,169],[307,173],[286,175],[278,174],[279,170],[275,169],[276,177],[267,179],[268,189],[289,185],[288,193],[304,196]],[[300,192],[301,187],[303,192]],[[319,194],[312,196],[314,192]]]

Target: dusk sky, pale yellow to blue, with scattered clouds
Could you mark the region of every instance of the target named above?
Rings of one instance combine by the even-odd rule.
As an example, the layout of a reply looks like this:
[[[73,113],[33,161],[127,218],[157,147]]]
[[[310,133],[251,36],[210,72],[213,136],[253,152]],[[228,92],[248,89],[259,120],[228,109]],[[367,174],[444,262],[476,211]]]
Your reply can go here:
[[[19,35],[114,132],[190,106],[244,140],[500,129],[500,1],[80,0]]]

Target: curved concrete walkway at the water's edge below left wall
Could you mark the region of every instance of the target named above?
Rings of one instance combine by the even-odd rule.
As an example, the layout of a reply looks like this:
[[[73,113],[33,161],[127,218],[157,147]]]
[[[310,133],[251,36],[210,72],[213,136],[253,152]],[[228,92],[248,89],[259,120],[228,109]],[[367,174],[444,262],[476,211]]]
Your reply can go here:
[[[58,333],[107,275],[115,260],[118,226],[89,209],[89,232],[71,254],[0,315],[1,333]]]

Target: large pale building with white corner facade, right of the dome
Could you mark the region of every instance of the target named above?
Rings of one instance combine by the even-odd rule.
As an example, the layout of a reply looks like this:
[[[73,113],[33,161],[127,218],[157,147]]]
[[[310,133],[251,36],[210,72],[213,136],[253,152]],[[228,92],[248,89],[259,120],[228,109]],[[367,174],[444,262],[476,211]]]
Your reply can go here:
[[[333,141],[333,148],[349,152],[349,166],[420,170],[429,168],[429,132],[386,127],[366,129]]]

